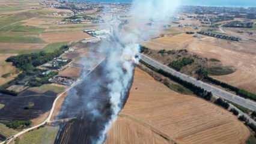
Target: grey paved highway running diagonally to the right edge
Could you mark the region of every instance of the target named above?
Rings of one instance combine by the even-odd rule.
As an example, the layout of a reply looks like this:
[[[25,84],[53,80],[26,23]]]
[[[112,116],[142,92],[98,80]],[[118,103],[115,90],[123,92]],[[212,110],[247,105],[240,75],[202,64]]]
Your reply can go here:
[[[148,65],[151,65],[152,67],[156,68],[157,70],[162,69],[163,71],[170,73],[173,76],[179,77],[181,80],[193,83],[194,85],[199,86],[200,88],[203,88],[206,91],[212,92],[213,95],[224,98],[225,100],[231,101],[240,106],[246,107],[247,109],[256,111],[256,103],[254,101],[239,97],[238,95],[231,94],[230,92],[224,91],[223,89],[217,88],[215,86],[197,80],[194,77],[190,77],[186,74],[175,71],[174,69],[169,68],[168,66],[163,65],[160,62],[157,62],[156,60],[149,58],[148,56],[145,56],[143,54],[141,54],[141,60],[147,63]]]

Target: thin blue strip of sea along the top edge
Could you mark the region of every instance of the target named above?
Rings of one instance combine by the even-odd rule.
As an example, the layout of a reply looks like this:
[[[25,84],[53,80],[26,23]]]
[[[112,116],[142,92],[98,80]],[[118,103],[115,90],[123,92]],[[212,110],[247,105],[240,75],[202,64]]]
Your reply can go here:
[[[88,0],[85,0],[88,1]],[[90,0],[94,2],[131,2],[132,0]],[[157,0],[161,1],[161,0]],[[177,1],[177,0],[169,0]],[[182,5],[213,5],[213,6],[243,6],[256,7],[256,0],[180,0]]]

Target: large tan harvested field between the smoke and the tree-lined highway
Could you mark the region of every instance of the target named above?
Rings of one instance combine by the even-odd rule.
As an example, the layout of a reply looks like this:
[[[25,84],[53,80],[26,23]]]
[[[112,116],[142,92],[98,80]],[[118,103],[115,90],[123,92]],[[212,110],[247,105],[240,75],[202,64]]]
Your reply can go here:
[[[135,70],[130,95],[106,143],[245,143],[249,130],[235,116],[181,95]]]

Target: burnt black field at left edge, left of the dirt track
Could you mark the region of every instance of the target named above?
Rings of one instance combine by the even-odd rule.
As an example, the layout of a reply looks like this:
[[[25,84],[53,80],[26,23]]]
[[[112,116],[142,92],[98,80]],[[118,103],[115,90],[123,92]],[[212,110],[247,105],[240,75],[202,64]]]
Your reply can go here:
[[[17,96],[0,94],[0,103],[5,104],[0,110],[0,120],[31,120],[38,118],[43,113],[48,112],[56,98],[55,92],[45,92],[38,94],[34,91],[25,91]],[[34,103],[31,109],[25,109],[28,103]]]

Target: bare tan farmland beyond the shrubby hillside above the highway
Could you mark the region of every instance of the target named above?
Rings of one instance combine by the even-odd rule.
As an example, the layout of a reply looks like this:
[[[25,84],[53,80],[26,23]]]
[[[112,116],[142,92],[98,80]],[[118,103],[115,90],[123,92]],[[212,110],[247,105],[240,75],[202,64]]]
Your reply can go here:
[[[203,58],[218,59],[224,65],[236,68],[236,72],[224,76],[213,76],[230,85],[256,92],[256,49],[254,44],[219,40],[212,37],[195,38],[180,34],[162,37],[142,44],[154,50],[187,49]]]

